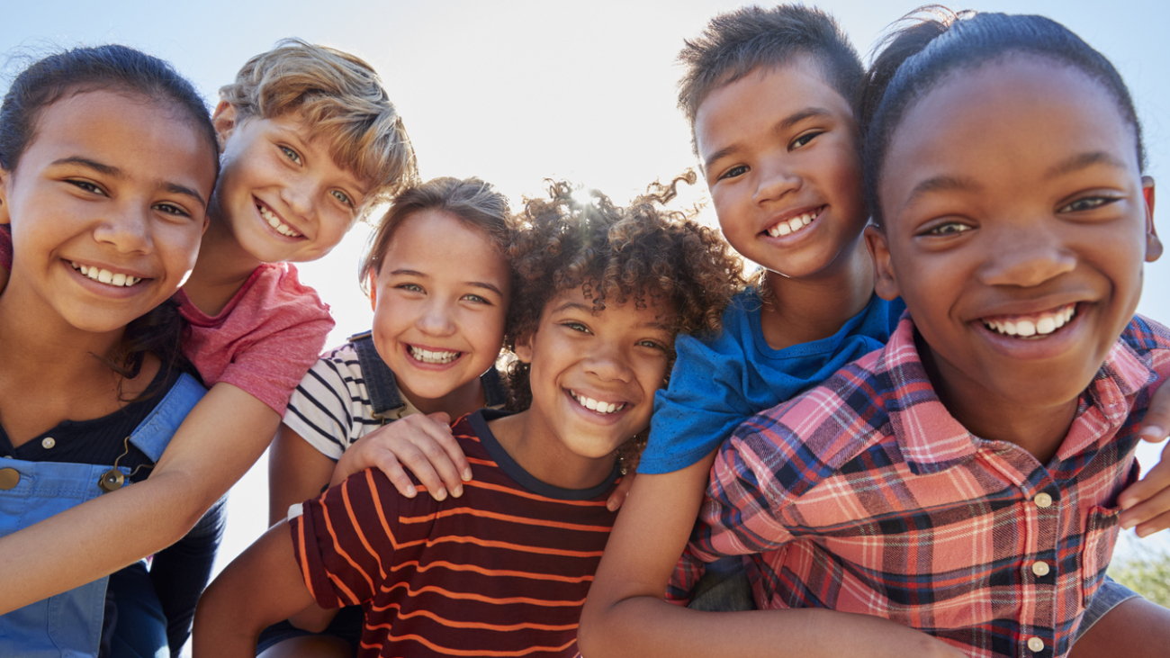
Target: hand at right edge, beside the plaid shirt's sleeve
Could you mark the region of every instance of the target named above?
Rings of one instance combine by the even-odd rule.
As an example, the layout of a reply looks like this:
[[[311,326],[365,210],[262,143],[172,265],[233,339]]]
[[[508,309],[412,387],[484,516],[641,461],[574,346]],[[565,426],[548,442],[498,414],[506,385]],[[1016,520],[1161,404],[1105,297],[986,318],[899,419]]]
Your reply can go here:
[[[1168,433],[1170,386],[1162,385],[1150,399],[1138,436],[1156,444],[1165,440]],[[1170,528],[1170,444],[1162,450],[1162,460],[1144,478],[1121,492],[1117,503],[1124,510],[1119,518],[1121,527],[1129,529],[1136,526],[1140,537]]]

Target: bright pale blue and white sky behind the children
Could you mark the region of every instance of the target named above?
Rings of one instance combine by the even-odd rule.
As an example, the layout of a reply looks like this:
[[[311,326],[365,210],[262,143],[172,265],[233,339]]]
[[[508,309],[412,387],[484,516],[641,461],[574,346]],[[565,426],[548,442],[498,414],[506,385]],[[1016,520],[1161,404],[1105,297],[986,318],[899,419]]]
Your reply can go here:
[[[885,27],[917,0],[827,0],[866,56]],[[252,55],[284,36],[355,53],[381,74],[401,111],[426,178],[479,176],[514,199],[545,178],[567,178],[626,200],[656,178],[693,166],[675,109],[674,57],[684,37],[741,5],[720,0],[508,2],[249,0],[202,2],[7,2],[0,53],[14,55],[4,87],[58,47],[125,43],[171,61],[209,104]],[[966,8],[966,6],[954,6]],[[1137,103],[1148,173],[1170,185],[1170,2],[1165,0],[976,1],[979,11],[1048,15],[1104,53]],[[867,60],[868,61],[868,60]],[[706,191],[700,190],[697,196]],[[1166,204],[1168,201],[1163,201]],[[1170,207],[1170,206],[1168,206]],[[1170,238],[1165,210],[1156,213]],[[369,328],[357,285],[367,229],[359,226],[302,279],[332,306],[330,344]],[[1147,266],[1138,308],[1170,322],[1170,256]],[[1149,452],[1147,453],[1149,454]],[[230,557],[266,522],[264,465],[232,505]]]

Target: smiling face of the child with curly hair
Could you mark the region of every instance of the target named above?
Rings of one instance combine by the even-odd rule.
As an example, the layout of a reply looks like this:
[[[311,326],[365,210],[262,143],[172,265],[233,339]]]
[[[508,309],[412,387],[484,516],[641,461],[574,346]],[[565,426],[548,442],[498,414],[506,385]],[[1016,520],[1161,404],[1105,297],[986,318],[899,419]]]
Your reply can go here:
[[[607,459],[649,425],[674,334],[668,304],[647,296],[594,311],[580,288],[544,306],[536,334],[516,345],[531,363],[531,413],[566,459]]]

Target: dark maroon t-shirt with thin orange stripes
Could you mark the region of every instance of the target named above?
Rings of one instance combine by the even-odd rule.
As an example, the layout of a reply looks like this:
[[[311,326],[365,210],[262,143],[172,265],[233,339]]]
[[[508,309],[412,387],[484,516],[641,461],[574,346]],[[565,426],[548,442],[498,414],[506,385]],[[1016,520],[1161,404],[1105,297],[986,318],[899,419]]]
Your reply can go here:
[[[360,656],[577,654],[617,473],[586,491],[539,482],[488,431],[484,419],[501,414],[452,429],[475,472],[461,498],[405,499],[365,471],[290,522],[317,602],[364,604]]]

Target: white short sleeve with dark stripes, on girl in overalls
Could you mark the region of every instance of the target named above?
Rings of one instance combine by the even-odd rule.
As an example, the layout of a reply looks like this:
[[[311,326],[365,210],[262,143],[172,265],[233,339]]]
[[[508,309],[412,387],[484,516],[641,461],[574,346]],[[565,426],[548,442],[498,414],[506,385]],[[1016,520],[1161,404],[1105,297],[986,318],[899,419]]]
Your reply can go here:
[[[338,460],[358,439],[355,414],[360,410],[360,369],[357,354],[340,348],[312,364],[289,398],[284,425],[325,457]],[[357,371],[355,371],[357,369]],[[355,397],[358,398],[355,403]]]

